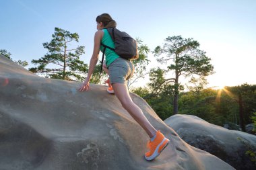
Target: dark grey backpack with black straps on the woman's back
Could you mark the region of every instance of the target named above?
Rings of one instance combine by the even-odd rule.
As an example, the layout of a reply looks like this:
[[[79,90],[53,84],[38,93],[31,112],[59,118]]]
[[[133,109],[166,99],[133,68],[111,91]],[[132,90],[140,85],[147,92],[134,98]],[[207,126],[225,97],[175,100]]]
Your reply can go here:
[[[121,32],[117,30],[117,28],[106,28],[108,33],[110,34],[112,40],[115,43],[115,48],[111,48],[110,46],[106,46],[105,44],[100,43],[103,48],[102,52],[102,63],[104,60],[104,54],[106,48],[115,51],[121,58],[125,58],[126,60],[135,60],[139,57],[137,50],[137,42],[129,36],[126,32]],[[102,71],[102,67],[100,69],[100,73]]]

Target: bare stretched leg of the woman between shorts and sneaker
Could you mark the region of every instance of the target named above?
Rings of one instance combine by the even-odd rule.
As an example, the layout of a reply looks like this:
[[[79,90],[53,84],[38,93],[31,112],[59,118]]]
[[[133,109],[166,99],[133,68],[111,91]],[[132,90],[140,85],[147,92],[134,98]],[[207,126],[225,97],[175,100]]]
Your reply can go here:
[[[115,94],[117,95],[117,98],[119,99],[119,101],[121,101],[123,108],[125,108],[125,110],[129,112],[134,120],[136,120],[136,122],[147,132],[148,136],[152,138],[157,131],[152,126],[152,124],[148,122],[148,119],[146,118],[146,116],[144,116],[141,109],[135,103],[133,103],[127,86],[122,83],[113,83],[112,86]]]

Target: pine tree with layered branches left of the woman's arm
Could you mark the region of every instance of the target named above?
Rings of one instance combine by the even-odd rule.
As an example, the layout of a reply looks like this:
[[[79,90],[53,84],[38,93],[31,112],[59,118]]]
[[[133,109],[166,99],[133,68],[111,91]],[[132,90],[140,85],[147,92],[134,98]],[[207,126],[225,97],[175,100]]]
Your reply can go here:
[[[49,50],[49,53],[38,60],[32,60],[32,63],[38,65],[38,67],[29,70],[53,79],[84,80],[85,77],[82,75],[87,73],[88,65],[79,59],[79,56],[85,53],[84,46],[71,48],[71,44],[69,44],[73,41],[79,42],[78,34],[71,34],[61,28],[55,28],[52,37],[51,42],[42,44],[44,48]],[[46,66],[48,67],[46,68]]]

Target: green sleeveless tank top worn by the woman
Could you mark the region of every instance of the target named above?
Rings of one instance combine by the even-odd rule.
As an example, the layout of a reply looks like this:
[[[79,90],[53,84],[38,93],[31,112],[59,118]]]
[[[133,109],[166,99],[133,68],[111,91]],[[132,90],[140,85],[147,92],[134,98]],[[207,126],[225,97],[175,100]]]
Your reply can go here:
[[[108,30],[102,29],[104,32],[104,35],[102,37],[101,43],[105,44],[106,46],[110,46],[111,48],[115,48],[115,43],[112,40],[110,34],[108,33]],[[100,46],[100,51],[103,52],[104,47]],[[105,50],[105,56],[106,56],[106,67],[108,67],[115,59],[119,58],[119,55],[113,50],[110,50],[106,48]]]

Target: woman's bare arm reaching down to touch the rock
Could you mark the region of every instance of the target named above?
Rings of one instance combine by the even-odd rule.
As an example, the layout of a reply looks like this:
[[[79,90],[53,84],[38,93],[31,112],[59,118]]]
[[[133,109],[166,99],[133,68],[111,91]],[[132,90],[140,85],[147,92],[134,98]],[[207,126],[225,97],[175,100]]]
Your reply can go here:
[[[96,32],[94,35],[94,51],[92,53],[92,58],[90,60],[88,75],[83,85],[79,88],[79,91],[88,91],[92,73],[94,73],[95,66],[98,62],[98,54],[100,52],[100,40],[102,39],[103,34],[104,33],[102,32],[102,30],[98,30],[98,32]]]

